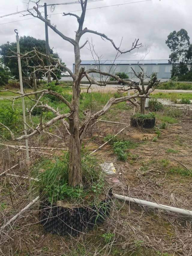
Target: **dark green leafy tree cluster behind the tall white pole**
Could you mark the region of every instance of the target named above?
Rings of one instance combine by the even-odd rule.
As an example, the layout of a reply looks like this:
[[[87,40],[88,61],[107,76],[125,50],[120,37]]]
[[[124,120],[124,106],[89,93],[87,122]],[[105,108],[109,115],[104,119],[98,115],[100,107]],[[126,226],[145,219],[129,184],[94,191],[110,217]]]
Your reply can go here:
[[[46,44],[44,40],[36,39],[31,36],[24,36],[19,38],[19,45],[20,45],[20,53],[25,54],[30,52],[34,49],[34,47],[41,53],[46,54]],[[19,69],[18,69],[18,62],[17,58],[10,58],[9,56],[15,55],[13,52],[17,52],[16,42],[6,44],[1,44],[0,46],[0,85],[5,85],[8,83],[8,79],[14,78],[19,80]],[[49,48],[49,54],[54,58],[61,58],[58,56],[57,53],[53,53],[53,50]],[[31,54],[32,56],[32,54]],[[30,56],[30,57],[31,57]],[[24,86],[32,86],[32,71],[34,66],[40,65],[40,60],[38,56],[34,56],[33,58],[21,59],[21,67],[22,67],[22,78]],[[46,58],[44,58],[44,63],[46,63]],[[55,63],[53,63],[54,65]],[[29,67],[30,66],[30,67]],[[56,70],[55,75],[58,79],[61,79],[61,71]],[[37,83],[39,80],[44,78],[44,74],[39,71],[35,73]],[[50,74],[53,80],[56,80],[56,76],[54,74]]]

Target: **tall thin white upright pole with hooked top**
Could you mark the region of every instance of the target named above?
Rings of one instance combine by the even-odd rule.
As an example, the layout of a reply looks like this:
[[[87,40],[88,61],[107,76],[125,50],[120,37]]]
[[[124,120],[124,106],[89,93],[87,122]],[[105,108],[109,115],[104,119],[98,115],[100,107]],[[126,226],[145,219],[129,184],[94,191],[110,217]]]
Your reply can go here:
[[[19,49],[19,35],[18,35],[18,32],[16,32],[16,31],[17,31],[17,29],[15,29],[15,33],[16,33],[16,42],[17,42],[17,56],[18,56],[18,66],[19,66],[19,81],[20,81],[21,93],[23,93],[23,83],[22,83],[22,73],[21,73],[21,59],[20,59],[20,49]],[[25,133],[25,135],[27,135],[24,97],[22,97],[21,100],[22,100],[22,110],[23,110],[24,133]],[[25,144],[26,144],[27,160],[29,160],[29,148],[28,148],[28,140],[27,139],[25,140]]]

